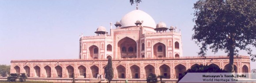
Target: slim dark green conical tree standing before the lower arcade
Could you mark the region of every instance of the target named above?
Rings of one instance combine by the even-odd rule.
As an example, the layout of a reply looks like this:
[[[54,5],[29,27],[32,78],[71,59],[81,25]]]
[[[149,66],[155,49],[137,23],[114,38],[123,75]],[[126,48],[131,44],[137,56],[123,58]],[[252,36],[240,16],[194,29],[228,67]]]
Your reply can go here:
[[[105,76],[106,76],[106,79],[109,80],[109,83],[114,77],[113,67],[112,67],[112,59],[111,58],[108,59],[108,64],[106,66],[106,75]]]

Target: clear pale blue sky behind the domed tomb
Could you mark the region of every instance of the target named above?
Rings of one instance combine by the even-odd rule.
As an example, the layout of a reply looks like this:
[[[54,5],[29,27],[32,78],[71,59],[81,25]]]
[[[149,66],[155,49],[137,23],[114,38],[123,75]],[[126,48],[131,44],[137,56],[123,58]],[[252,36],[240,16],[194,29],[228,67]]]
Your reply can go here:
[[[139,10],[156,23],[181,29],[184,56],[197,56],[199,47],[191,40],[195,2],[143,0]],[[78,59],[81,33],[95,35],[101,25],[109,31],[110,22],[135,9],[129,0],[0,0],[0,64],[17,59]],[[251,62],[251,68],[256,68],[256,62]]]

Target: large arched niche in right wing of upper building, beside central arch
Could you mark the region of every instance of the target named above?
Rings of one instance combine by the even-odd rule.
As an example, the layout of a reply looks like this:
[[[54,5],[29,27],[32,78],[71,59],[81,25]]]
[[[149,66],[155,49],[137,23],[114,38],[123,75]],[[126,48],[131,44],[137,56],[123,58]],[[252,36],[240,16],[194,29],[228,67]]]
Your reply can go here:
[[[166,45],[163,43],[156,43],[153,46],[154,49],[154,57],[166,57]]]

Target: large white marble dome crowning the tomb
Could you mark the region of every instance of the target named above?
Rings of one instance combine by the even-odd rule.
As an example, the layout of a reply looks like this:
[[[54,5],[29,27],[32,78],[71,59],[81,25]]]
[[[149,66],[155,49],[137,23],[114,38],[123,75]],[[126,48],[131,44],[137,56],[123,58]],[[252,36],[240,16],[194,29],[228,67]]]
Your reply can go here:
[[[142,10],[133,10],[122,17],[120,20],[121,28],[136,26],[134,23],[138,20],[143,21],[144,27],[155,28],[156,26],[154,19],[149,14]]]

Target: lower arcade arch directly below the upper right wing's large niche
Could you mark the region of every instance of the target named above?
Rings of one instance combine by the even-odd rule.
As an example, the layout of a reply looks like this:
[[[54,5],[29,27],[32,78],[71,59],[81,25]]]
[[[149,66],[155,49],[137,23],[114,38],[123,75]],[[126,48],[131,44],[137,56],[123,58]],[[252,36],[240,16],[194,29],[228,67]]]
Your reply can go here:
[[[165,76],[164,78],[170,78],[170,67],[166,64],[163,64],[162,66],[159,67],[160,69],[160,75]]]

